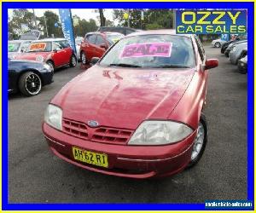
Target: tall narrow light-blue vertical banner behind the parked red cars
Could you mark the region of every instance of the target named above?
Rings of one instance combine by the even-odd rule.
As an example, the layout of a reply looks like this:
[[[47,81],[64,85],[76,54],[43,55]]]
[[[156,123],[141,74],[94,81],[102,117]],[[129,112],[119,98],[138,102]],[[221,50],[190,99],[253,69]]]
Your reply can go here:
[[[76,53],[76,45],[73,33],[73,22],[72,14],[70,9],[59,9],[62,32],[67,42],[72,47],[73,51]]]

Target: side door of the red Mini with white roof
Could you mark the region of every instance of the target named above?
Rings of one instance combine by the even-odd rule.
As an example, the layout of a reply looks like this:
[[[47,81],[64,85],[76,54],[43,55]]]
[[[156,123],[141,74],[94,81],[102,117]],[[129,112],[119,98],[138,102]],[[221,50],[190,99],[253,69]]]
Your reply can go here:
[[[62,48],[59,42],[53,42],[52,45],[53,45],[52,59],[55,63],[55,67],[66,65],[68,63],[67,51]]]

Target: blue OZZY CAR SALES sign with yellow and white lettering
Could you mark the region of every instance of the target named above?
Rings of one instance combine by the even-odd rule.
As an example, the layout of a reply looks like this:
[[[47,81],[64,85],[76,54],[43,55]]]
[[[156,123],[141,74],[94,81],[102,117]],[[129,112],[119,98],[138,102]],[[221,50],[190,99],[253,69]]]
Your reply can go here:
[[[246,10],[177,10],[178,34],[244,34]]]

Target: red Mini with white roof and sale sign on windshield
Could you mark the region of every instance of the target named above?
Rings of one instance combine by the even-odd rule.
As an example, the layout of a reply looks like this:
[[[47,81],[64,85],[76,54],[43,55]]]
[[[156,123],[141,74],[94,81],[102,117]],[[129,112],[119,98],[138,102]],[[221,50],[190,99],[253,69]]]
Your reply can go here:
[[[26,49],[26,53],[15,56],[15,59],[45,62],[53,71],[61,66],[77,65],[73,49],[63,38],[49,38],[32,42]]]

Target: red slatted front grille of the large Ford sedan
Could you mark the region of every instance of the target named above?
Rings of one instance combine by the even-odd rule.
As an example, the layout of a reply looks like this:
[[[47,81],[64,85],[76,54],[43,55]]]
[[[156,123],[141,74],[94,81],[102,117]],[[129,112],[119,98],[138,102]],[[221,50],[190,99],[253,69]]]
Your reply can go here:
[[[126,144],[133,130],[115,129],[108,127],[90,128],[87,124],[63,118],[62,121],[63,131],[68,135],[73,135],[84,140],[113,143],[113,144]]]

